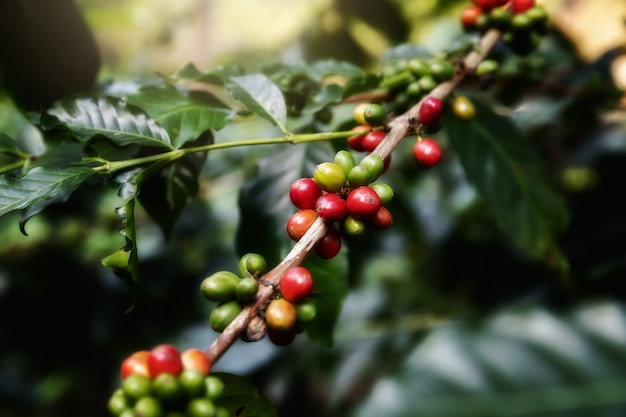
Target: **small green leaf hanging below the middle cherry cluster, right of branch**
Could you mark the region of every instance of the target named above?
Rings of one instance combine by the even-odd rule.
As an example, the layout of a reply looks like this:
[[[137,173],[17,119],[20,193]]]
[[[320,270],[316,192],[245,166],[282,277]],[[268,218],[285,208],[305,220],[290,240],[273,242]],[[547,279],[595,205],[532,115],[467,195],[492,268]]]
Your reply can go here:
[[[311,271],[315,282],[316,317],[307,326],[307,335],[316,342],[333,346],[337,319],[348,295],[348,255],[342,248],[332,259],[310,255],[304,266]]]

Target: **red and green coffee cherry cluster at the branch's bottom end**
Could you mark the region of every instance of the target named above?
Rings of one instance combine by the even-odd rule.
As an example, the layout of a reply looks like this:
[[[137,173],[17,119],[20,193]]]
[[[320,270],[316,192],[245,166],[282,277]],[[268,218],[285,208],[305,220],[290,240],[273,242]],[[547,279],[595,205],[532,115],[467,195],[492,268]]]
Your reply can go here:
[[[113,417],[227,417],[216,401],[224,384],[210,375],[198,349],[182,353],[170,344],[132,353],[121,365],[121,385],[108,401]]]

